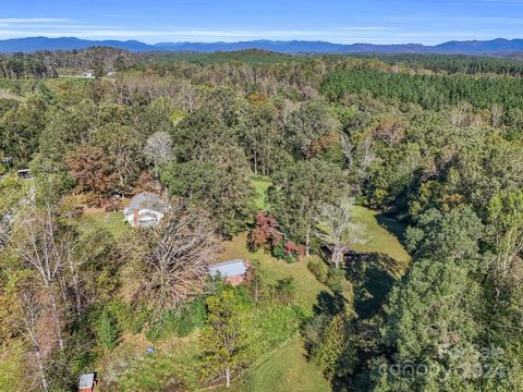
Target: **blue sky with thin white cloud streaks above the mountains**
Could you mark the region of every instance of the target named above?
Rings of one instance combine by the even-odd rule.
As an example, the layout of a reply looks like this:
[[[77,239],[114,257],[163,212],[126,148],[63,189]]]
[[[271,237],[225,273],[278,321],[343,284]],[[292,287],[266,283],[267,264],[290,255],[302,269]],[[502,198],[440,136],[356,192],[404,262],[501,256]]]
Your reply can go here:
[[[0,0],[0,39],[426,44],[523,38],[523,0]]]

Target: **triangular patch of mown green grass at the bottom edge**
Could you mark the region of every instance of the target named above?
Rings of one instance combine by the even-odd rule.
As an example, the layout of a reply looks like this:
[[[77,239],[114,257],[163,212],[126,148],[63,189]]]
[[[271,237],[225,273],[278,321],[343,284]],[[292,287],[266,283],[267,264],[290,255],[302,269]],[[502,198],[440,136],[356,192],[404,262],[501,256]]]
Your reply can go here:
[[[268,353],[254,365],[243,379],[232,384],[240,392],[327,392],[330,384],[321,372],[304,357],[299,338]]]

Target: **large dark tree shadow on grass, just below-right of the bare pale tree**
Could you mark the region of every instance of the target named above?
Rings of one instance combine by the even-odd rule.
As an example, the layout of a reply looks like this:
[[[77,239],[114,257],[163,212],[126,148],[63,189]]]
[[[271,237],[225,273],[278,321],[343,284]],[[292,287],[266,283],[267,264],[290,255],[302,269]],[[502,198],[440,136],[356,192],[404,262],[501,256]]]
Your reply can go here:
[[[348,266],[345,278],[354,282],[354,309],[361,318],[379,311],[397,277],[396,260],[382,253],[370,253],[367,260]]]

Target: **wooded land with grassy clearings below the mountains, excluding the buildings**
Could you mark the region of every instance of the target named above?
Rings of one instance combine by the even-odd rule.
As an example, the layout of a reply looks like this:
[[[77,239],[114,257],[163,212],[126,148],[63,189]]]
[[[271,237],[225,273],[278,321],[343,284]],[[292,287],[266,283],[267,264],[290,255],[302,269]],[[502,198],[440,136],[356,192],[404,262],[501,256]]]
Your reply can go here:
[[[0,58],[0,390],[523,390],[521,64]]]

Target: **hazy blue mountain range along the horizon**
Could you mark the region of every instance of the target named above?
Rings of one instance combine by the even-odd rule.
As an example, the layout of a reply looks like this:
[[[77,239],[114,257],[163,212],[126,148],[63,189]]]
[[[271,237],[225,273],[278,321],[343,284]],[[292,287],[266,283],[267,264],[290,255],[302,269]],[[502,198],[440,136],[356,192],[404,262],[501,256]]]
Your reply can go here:
[[[0,40],[0,52],[34,52],[38,50],[73,50],[107,46],[133,52],[143,51],[235,51],[263,49],[280,53],[440,53],[440,54],[509,54],[523,52],[523,39],[449,41],[435,46],[421,44],[374,45],[332,44],[326,41],[252,40],[239,42],[160,42],[155,45],[136,40],[87,40],[75,37],[27,37]]]

